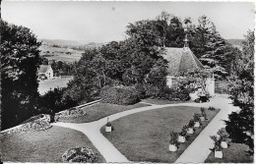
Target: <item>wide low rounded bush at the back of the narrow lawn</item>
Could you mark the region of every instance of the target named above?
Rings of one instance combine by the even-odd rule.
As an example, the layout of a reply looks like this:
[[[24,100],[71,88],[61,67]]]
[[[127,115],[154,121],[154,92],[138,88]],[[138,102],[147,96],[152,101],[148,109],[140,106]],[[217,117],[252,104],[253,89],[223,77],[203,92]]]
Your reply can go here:
[[[131,86],[104,86],[100,90],[101,102],[131,105],[139,102],[138,92]]]

